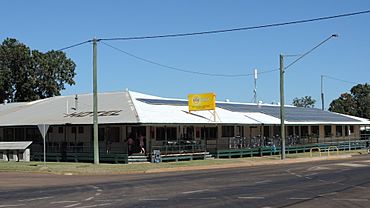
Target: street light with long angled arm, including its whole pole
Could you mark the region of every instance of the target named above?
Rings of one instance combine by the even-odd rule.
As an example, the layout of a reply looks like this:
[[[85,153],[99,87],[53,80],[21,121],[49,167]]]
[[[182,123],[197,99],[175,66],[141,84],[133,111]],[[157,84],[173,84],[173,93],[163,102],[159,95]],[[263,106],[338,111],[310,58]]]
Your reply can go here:
[[[299,60],[301,60],[303,57],[310,54],[312,51],[320,47],[325,42],[329,41],[331,38],[338,37],[338,34],[332,34],[325,40],[321,41],[319,44],[317,44],[315,47],[313,47],[311,50],[307,51],[300,57],[298,57],[296,60],[294,60],[292,63],[290,63],[288,66],[284,67],[284,56],[280,54],[280,135],[281,135],[281,159],[285,159],[285,108],[284,108],[284,73],[285,70],[291,67],[293,64],[297,63]]]

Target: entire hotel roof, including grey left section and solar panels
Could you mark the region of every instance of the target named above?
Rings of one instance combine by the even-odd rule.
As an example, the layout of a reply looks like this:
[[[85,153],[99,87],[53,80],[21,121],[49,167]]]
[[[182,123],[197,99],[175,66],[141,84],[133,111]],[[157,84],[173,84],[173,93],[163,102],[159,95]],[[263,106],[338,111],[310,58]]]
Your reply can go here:
[[[75,95],[70,95],[0,104],[0,126],[92,124],[92,94],[78,95],[77,106],[75,101]],[[98,120],[100,124],[280,124],[278,106],[275,105],[217,102],[216,106],[215,122],[210,111],[190,113],[185,99],[162,98],[133,91],[99,93]],[[368,119],[318,109],[287,106],[286,110],[285,123],[291,125],[370,125]]]

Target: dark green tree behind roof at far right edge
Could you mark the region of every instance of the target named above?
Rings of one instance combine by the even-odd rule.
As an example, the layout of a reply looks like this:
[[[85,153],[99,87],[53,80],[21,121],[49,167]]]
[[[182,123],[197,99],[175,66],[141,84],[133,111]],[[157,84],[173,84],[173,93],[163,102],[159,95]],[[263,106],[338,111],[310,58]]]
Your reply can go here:
[[[370,86],[358,84],[351,88],[351,94],[343,93],[330,103],[329,111],[362,118],[370,118]]]

